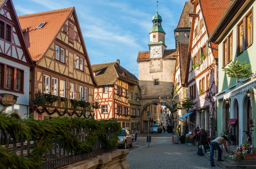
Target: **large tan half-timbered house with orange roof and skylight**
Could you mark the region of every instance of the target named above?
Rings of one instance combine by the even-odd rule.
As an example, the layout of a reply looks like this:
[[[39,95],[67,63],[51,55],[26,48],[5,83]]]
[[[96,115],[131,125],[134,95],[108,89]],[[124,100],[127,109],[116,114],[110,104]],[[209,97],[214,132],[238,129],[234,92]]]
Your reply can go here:
[[[93,89],[97,83],[75,8],[18,18],[35,62],[30,72],[31,98],[35,98],[38,91],[48,98],[45,105],[35,107],[34,118],[67,114],[72,117],[91,116],[93,110],[89,105],[93,103]]]

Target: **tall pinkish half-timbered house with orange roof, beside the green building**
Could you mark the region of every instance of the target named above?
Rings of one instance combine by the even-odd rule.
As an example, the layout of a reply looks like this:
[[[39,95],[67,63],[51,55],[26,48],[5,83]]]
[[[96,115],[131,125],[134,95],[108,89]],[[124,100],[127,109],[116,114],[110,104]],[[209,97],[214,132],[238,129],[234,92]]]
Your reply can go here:
[[[195,113],[189,115],[190,120],[196,122],[196,126],[191,126],[190,131],[197,126],[210,131],[210,126],[213,126],[217,115],[213,96],[218,92],[218,52],[213,49],[218,46],[208,44],[207,40],[231,1],[190,0],[190,2],[194,5],[194,9],[193,13],[189,13],[192,23],[186,78],[188,95],[193,96],[197,103],[194,106]],[[216,129],[212,128],[212,130]]]

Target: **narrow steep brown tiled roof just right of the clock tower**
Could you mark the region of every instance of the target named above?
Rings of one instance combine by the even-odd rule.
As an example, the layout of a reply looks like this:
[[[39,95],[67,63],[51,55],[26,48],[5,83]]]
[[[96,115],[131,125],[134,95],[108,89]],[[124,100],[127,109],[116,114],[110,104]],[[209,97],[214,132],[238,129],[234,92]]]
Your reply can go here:
[[[181,85],[184,85],[186,83],[186,73],[188,65],[188,45],[189,42],[178,41]]]

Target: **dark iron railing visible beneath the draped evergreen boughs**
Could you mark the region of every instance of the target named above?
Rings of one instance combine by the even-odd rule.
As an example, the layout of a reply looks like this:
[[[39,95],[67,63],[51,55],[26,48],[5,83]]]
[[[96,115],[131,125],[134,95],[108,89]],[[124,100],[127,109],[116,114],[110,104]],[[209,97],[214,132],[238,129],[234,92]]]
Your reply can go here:
[[[90,130],[88,129],[74,129],[73,133],[79,138],[81,141],[85,141],[86,137],[90,135]],[[113,129],[108,130],[108,138],[111,138],[113,135]],[[16,152],[17,155],[21,155],[24,158],[27,158],[30,153],[33,151],[36,145],[36,136],[34,140],[17,140],[15,137],[15,132],[7,133],[7,131],[0,130],[0,146],[3,146],[8,152]],[[52,141],[52,146],[47,148],[47,151],[43,155],[44,164],[41,165],[41,169],[52,169],[59,168],[60,166],[65,166],[71,163],[75,163],[77,161],[81,161],[87,158],[95,157],[97,155],[103,154],[105,152],[113,151],[117,149],[115,145],[112,148],[107,148],[106,146],[102,146],[100,143],[100,139],[96,140],[94,144],[92,152],[79,152],[74,151],[73,149],[65,148],[66,145],[64,142],[61,142],[60,139],[56,139]]]

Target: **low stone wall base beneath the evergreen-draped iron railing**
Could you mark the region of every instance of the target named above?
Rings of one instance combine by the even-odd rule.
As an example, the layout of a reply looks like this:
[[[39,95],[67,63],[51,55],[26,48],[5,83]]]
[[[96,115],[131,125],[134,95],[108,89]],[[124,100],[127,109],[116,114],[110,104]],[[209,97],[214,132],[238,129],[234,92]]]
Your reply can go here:
[[[64,167],[62,169],[130,169],[130,165],[126,162],[126,156],[129,153],[127,149],[117,149],[109,153],[104,153],[94,158],[82,160]]]

